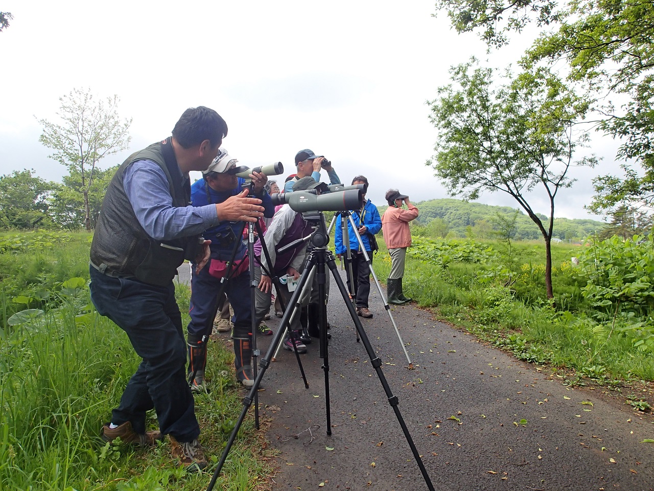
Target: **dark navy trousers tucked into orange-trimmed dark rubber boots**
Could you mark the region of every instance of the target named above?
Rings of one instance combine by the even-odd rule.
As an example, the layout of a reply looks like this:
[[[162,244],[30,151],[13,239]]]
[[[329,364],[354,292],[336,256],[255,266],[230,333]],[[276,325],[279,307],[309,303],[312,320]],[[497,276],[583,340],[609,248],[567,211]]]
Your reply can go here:
[[[209,274],[209,264],[199,273],[193,270],[191,276],[191,302],[188,314],[188,333],[207,336],[211,334],[213,319],[218,310],[220,280]],[[252,312],[250,311],[250,273],[245,271],[236,278],[230,278],[225,293],[234,311],[234,336],[247,338],[252,333]],[[268,300],[268,305],[270,300]]]

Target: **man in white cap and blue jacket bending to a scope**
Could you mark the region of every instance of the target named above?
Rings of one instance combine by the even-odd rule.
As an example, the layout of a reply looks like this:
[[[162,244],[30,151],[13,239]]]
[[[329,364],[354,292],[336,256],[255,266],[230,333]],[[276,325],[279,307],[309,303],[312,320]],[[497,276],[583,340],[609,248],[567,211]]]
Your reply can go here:
[[[191,186],[193,206],[222,203],[231,196],[241,193],[245,179],[236,177],[236,160],[221,148],[218,156],[209,168],[202,172],[199,179]],[[250,174],[254,196],[262,200],[264,217],[275,213],[270,195],[266,192],[266,175],[258,172]],[[243,221],[220,222],[216,227],[205,230],[204,237],[211,240],[211,259],[206,268],[193,272],[191,276],[191,301],[188,323],[188,354],[190,357],[188,372],[195,373],[194,388],[204,383],[205,365],[207,364],[206,340],[203,336],[211,334],[211,325],[218,309],[218,291],[221,279],[228,274],[232,251],[236,247],[232,273],[225,287],[225,293],[234,310],[234,365],[236,376],[244,386],[254,384],[252,376],[252,314],[250,310],[250,272],[247,246],[243,242],[241,230]]]

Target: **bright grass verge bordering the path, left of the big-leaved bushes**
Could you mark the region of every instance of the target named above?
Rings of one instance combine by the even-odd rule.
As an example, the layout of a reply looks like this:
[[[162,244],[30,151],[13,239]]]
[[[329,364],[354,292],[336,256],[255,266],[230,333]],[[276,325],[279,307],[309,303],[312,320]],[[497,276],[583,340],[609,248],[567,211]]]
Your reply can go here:
[[[373,268],[385,281],[390,257],[383,240],[379,242]],[[615,326],[610,319],[598,319],[581,296],[570,264],[579,250],[553,244],[555,302],[545,296],[544,245],[536,243],[515,244],[511,261],[499,254],[483,264],[452,261],[442,267],[407,255],[404,291],[438,318],[525,361],[572,370],[600,383],[654,380],[653,350],[636,347],[632,329],[614,328],[611,333]]]

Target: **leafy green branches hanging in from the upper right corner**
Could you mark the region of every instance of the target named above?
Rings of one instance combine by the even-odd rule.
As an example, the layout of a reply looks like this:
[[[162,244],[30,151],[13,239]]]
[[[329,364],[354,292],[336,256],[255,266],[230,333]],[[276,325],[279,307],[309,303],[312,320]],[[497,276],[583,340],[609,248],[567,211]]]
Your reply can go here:
[[[597,101],[598,129],[621,141],[621,172],[594,180],[589,208],[610,212],[620,204],[654,202],[654,3],[438,0],[436,8],[458,32],[477,31],[489,46],[508,43],[508,33],[530,22],[553,26],[527,50],[523,65],[566,62],[568,81],[585,86]]]

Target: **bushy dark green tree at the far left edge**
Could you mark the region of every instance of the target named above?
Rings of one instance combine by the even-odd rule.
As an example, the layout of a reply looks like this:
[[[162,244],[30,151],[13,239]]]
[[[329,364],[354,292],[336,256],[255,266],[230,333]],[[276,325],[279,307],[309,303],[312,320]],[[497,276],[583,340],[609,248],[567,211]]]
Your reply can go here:
[[[58,185],[33,172],[24,169],[0,175],[0,228],[54,227],[48,200]]]

